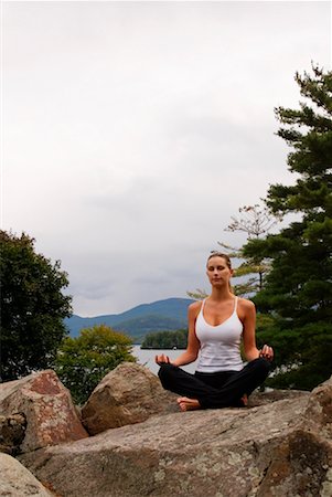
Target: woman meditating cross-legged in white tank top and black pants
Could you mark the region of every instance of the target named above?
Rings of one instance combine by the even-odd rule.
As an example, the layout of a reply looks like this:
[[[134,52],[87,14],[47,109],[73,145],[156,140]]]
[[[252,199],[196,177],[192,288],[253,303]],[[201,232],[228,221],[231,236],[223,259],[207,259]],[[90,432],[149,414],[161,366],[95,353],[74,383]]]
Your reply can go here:
[[[168,356],[156,356],[163,388],[183,395],[178,399],[182,411],[246,405],[248,395],[267,378],[274,358],[271,347],[256,347],[254,304],[232,293],[228,255],[213,252],[206,274],[212,292],[189,306],[186,350],[173,362]],[[195,374],[183,371],[180,366],[194,362],[199,352]]]

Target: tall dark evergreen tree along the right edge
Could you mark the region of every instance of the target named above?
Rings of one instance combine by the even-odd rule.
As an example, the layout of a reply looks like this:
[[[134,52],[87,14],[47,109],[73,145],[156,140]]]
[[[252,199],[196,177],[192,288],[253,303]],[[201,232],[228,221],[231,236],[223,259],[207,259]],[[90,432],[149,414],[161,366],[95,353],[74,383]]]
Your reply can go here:
[[[266,204],[299,219],[249,241],[244,254],[272,261],[255,303],[277,319],[271,339],[281,376],[274,383],[311,389],[332,373],[332,73],[312,66],[312,75],[297,73],[296,81],[306,102],[299,109],[278,107],[276,116],[297,179],[271,186]]]

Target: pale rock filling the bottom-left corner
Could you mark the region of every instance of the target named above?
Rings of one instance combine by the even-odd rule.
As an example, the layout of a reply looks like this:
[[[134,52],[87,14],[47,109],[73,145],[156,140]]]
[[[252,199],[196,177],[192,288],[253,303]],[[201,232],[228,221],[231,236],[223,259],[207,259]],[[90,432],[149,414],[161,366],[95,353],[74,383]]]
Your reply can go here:
[[[43,485],[17,459],[0,454],[0,495],[12,497],[50,497]]]

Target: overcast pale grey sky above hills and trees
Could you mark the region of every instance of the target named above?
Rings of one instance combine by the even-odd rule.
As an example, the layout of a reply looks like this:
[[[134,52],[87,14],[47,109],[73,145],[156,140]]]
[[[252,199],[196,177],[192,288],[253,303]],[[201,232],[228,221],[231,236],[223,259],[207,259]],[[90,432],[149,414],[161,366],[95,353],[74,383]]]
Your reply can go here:
[[[274,109],[331,70],[331,2],[2,1],[1,28],[2,230],[79,316],[208,289],[231,216],[296,180]]]

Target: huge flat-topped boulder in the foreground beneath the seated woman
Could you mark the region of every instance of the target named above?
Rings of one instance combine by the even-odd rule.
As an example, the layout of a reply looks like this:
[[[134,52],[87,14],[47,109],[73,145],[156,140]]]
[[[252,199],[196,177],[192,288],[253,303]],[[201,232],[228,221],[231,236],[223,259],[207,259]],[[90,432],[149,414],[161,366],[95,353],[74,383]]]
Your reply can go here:
[[[331,497],[330,389],[153,415],[20,461],[66,497]]]

